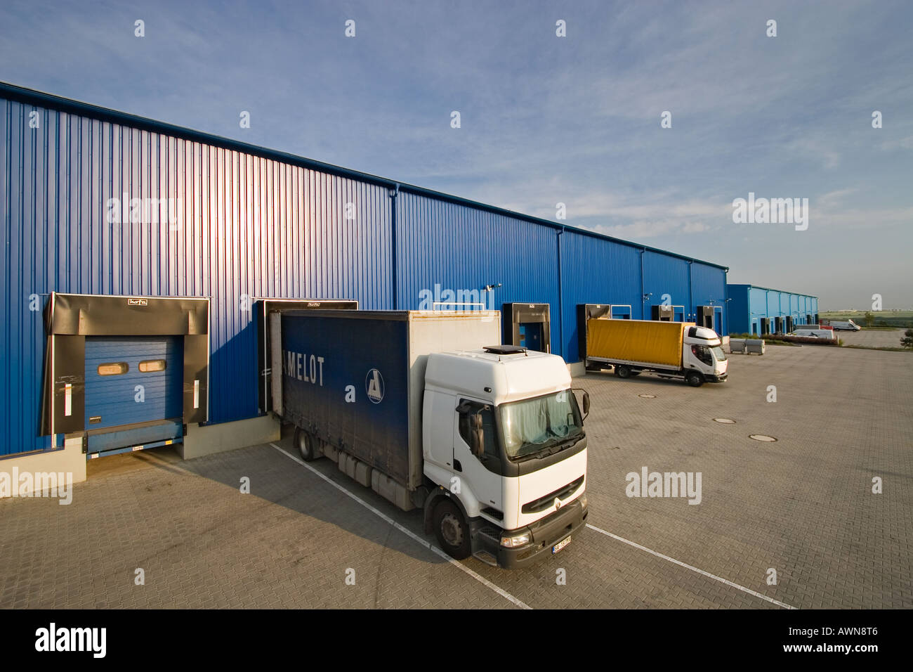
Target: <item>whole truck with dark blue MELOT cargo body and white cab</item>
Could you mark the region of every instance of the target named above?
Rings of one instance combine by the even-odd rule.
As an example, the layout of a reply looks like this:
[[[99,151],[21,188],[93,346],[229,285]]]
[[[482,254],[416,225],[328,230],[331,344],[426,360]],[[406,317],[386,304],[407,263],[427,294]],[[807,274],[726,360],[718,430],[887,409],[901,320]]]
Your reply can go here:
[[[582,409],[561,357],[498,346],[498,311],[269,315],[273,409],[325,456],[410,510],[456,559],[522,567],[587,517]]]

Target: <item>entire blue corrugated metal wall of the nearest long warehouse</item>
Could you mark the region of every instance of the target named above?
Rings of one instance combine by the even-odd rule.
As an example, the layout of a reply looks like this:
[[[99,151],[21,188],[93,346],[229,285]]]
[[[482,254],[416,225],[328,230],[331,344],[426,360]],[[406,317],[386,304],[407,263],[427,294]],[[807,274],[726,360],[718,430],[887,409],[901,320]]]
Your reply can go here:
[[[37,428],[41,311],[50,292],[210,297],[211,422],[257,415],[254,297],[417,309],[429,307],[423,297],[446,300],[436,295],[439,285],[439,293],[462,290],[457,300],[475,296],[497,309],[547,303],[551,351],[571,362],[579,359],[577,304],[630,304],[635,317],[649,317],[647,306],[664,293],[688,304],[687,260],[661,251],[418,187],[392,201],[381,178],[166,133],[161,124],[77,103],[63,105],[70,112],[36,107],[18,95],[0,98],[0,454],[49,445]],[[133,222],[135,198],[164,200]],[[705,295],[723,297],[726,272],[691,267],[693,312]],[[496,283],[493,293],[481,292]],[[647,303],[645,292],[653,293]]]

